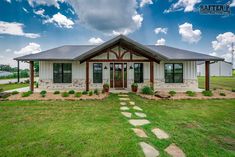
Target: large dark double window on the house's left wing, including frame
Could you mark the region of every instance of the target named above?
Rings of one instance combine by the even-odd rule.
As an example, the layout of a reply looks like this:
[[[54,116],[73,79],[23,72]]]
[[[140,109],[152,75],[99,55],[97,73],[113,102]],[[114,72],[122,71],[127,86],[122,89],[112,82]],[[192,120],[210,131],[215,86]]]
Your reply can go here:
[[[72,83],[72,64],[54,63],[53,64],[54,83]]]

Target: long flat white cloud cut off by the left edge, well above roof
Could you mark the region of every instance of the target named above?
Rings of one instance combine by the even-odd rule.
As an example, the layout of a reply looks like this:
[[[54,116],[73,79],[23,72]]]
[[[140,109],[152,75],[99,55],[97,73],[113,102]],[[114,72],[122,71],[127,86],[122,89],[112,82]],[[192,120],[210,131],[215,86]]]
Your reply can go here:
[[[35,33],[25,33],[23,31],[24,24],[16,23],[16,22],[4,22],[0,21],[0,34],[7,35],[16,35],[16,36],[24,36],[27,38],[38,38],[39,34]]]

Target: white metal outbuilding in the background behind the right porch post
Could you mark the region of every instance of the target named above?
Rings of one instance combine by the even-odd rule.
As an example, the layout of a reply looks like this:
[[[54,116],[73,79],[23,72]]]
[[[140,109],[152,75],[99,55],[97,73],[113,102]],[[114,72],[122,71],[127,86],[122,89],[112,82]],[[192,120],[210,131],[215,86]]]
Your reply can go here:
[[[205,62],[197,62],[197,76],[205,76]],[[233,76],[233,64],[226,61],[211,62],[210,76]]]

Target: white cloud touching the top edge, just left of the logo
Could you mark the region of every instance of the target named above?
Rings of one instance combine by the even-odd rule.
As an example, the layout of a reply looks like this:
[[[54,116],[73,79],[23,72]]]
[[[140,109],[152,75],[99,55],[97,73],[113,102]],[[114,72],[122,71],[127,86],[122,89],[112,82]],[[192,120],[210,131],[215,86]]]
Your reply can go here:
[[[195,10],[195,5],[200,3],[201,0],[178,0],[173,3],[169,9],[165,10],[164,13],[184,10],[184,12],[192,12]]]

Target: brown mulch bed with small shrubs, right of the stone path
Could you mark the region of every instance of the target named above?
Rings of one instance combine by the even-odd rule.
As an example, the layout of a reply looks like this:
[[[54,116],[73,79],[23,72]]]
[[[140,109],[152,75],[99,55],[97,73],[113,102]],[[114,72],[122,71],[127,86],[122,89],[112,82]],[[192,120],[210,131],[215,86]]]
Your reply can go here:
[[[168,100],[184,100],[184,99],[198,99],[198,100],[205,100],[205,99],[235,99],[235,92],[231,92],[228,90],[214,90],[213,96],[204,96],[201,92],[197,92],[196,96],[188,96],[185,92],[177,92],[176,95],[167,98]],[[221,96],[220,93],[225,93],[226,96]],[[167,94],[167,93],[166,93]],[[138,93],[139,96],[146,99],[152,100],[162,100],[154,95],[145,95]]]

